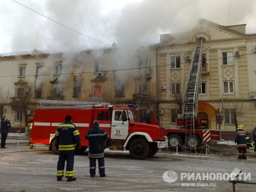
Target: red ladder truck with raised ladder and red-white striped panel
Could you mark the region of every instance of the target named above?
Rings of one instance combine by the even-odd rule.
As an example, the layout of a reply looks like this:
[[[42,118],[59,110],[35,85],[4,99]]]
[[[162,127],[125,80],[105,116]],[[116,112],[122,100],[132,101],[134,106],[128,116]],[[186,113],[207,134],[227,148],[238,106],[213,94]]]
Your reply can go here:
[[[197,117],[198,96],[200,88],[200,77],[202,67],[203,37],[196,40],[195,49],[190,62],[186,90],[183,95],[182,114],[178,114],[177,129],[165,128],[170,148],[185,146],[185,148],[196,149],[202,143],[219,141],[220,130],[205,129],[199,125]]]

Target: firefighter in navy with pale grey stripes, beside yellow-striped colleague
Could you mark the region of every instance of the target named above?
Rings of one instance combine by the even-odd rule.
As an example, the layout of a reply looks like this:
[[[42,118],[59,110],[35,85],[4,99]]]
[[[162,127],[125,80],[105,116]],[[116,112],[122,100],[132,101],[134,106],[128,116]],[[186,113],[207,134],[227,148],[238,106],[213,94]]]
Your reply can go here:
[[[98,159],[100,177],[105,177],[104,140],[108,139],[108,135],[99,128],[97,120],[93,121],[92,125],[93,128],[89,129],[85,135],[85,138],[89,140],[90,175],[94,177],[96,174],[96,159]]]

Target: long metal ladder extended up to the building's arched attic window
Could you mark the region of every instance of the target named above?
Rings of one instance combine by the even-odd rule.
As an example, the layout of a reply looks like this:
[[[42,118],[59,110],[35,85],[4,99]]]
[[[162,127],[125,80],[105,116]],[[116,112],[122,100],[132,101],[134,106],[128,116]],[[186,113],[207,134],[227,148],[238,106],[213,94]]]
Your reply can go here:
[[[203,38],[196,40],[193,57],[190,62],[190,68],[187,79],[187,86],[183,96],[182,115],[190,118],[197,117],[198,95],[202,68],[202,46]]]

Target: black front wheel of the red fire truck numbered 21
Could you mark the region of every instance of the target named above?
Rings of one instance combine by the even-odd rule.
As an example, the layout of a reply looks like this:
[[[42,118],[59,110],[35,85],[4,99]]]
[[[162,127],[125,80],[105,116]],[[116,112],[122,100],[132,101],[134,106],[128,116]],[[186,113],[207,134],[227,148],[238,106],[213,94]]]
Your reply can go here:
[[[143,139],[134,139],[130,146],[129,152],[134,159],[145,159],[149,155],[149,146]]]

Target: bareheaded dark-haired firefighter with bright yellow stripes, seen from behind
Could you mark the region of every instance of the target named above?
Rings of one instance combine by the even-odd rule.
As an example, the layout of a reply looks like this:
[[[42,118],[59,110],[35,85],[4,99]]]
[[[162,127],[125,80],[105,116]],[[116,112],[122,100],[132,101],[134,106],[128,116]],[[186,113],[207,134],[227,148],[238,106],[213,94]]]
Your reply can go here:
[[[59,160],[57,164],[57,181],[61,181],[64,176],[65,161],[67,181],[75,181],[74,177],[74,156],[75,156],[75,144],[77,148],[80,148],[80,136],[77,127],[71,122],[72,117],[67,115],[65,117],[65,123],[59,125],[55,132],[55,138],[59,145]]]

